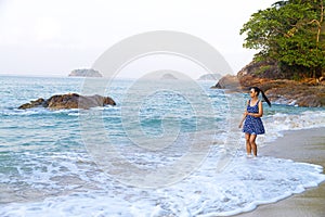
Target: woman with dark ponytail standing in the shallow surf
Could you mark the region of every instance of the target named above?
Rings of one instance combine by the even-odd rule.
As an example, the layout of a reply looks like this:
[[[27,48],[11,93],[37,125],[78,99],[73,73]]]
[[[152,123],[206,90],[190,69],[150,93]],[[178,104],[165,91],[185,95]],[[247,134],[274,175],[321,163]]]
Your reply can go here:
[[[257,156],[256,138],[258,135],[263,135],[265,132],[261,120],[261,117],[263,116],[263,104],[262,101],[259,100],[260,92],[262,93],[264,101],[271,107],[271,103],[264,92],[257,87],[251,87],[249,91],[250,100],[247,101],[247,108],[239,124],[239,128],[242,128],[245,120],[243,131],[245,132],[248,157],[251,157],[251,151],[253,156]]]

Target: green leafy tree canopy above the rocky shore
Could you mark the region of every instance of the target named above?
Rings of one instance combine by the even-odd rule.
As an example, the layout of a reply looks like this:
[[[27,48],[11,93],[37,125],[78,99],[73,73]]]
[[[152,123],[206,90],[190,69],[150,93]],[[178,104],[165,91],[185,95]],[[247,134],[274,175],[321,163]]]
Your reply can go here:
[[[244,24],[244,48],[256,61],[276,61],[284,73],[320,77],[325,72],[325,0],[283,0],[253,13]]]

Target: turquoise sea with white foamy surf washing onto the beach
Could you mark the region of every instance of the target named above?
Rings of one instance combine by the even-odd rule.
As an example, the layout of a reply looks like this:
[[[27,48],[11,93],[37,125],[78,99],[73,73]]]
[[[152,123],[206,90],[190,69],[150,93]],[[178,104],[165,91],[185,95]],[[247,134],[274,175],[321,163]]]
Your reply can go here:
[[[0,76],[0,216],[232,215],[325,179],[317,165],[246,158],[237,124],[248,95],[211,81],[197,81],[202,92],[166,82],[147,91],[147,81],[114,80],[104,92],[116,106],[22,111],[30,100],[82,93],[84,79]],[[325,126],[324,108],[264,110],[259,145]]]

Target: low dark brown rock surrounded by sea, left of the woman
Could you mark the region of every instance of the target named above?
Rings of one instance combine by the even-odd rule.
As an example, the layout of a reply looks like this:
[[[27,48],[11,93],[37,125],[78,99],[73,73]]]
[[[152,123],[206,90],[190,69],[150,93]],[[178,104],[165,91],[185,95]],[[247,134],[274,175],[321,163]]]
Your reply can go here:
[[[51,110],[61,110],[61,108],[84,108],[105,105],[116,105],[114,100],[109,97],[102,97],[99,94],[94,95],[79,95],[78,93],[67,93],[67,94],[57,94],[52,95],[48,100],[42,98],[30,101],[21,105],[20,110],[26,110],[31,107],[47,107]]]

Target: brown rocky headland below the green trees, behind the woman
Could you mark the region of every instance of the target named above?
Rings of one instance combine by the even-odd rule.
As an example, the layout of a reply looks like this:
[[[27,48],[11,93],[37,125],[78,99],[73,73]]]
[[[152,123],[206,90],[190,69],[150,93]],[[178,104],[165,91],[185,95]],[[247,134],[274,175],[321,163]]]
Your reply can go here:
[[[298,106],[325,106],[325,78],[306,78],[299,81],[285,79],[276,64],[250,63],[236,76],[223,76],[211,88],[248,91],[259,87],[272,103]]]

